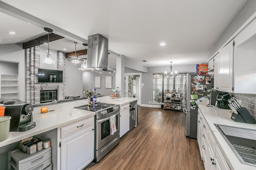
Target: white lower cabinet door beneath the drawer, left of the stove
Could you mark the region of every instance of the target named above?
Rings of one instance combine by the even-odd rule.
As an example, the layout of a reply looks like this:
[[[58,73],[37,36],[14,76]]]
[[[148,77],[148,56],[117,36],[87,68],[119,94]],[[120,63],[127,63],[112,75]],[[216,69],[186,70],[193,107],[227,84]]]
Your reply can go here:
[[[94,159],[94,127],[90,126],[61,141],[61,170],[82,169]]]

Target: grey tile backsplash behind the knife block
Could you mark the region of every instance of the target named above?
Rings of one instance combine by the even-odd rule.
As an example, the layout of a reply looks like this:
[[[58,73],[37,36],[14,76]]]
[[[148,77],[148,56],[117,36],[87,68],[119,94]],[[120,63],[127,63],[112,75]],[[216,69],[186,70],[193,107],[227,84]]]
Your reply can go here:
[[[256,94],[231,93],[231,97],[241,100],[241,104],[246,107],[252,117],[256,119]]]

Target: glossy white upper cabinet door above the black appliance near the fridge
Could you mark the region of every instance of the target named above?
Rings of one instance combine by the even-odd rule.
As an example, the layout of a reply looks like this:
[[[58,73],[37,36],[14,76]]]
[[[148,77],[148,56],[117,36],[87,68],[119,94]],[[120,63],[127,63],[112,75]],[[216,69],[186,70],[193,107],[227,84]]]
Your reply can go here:
[[[234,60],[234,44],[233,41],[228,43],[220,50],[219,65],[219,88],[223,92],[232,92],[233,87],[233,60]]]

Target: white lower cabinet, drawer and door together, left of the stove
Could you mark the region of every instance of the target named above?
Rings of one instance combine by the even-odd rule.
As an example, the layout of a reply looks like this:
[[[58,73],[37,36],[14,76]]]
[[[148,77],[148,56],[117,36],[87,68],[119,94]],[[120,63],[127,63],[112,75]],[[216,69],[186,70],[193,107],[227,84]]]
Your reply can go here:
[[[58,128],[61,170],[81,170],[94,159],[94,117]]]

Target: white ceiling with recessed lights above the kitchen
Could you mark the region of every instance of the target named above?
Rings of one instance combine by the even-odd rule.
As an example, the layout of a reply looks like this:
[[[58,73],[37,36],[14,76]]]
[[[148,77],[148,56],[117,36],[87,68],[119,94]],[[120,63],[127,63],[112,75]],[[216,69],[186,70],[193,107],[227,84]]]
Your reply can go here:
[[[166,66],[170,61],[173,65],[205,62],[207,52],[246,0],[2,2],[83,39],[100,33],[108,38],[109,50],[142,65]],[[47,33],[41,27],[3,13],[0,21],[0,44],[25,42]],[[10,31],[16,34],[9,35]],[[160,46],[162,42],[167,45]],[[74,41],[68,39],[49,45],[50,49],[74,51]],[[84,49],[82,43],[77,44],[79,49]]]

